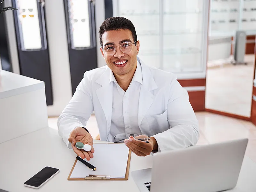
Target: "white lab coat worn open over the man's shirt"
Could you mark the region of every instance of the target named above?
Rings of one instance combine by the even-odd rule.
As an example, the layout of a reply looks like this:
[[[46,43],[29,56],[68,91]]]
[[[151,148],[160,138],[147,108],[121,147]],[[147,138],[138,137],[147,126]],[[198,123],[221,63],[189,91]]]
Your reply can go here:
[[[138,58],[143,84],[140,89],[138,125],[141,133],[154,136],[158,151],[195,145],[199,139],[198,121],[188,101],[187,91],[176,76],[149,67]],[[70,132],[77,126],[86,127],[94,111],[100,140],[113,141],[109,134],[112,116],[113,86],[109,83],[111,70],[96,68],[84,73],[74,96],[58,119],[59,134],[68,142]]]

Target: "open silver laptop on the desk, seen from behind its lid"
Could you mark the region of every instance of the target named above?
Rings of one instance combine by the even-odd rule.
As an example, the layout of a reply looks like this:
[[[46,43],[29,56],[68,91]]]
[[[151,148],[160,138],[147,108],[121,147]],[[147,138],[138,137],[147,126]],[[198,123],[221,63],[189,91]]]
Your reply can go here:
[[[131,172],[141,192],[217,192],[236,186],[248,139],[156,154],[153,167]]]

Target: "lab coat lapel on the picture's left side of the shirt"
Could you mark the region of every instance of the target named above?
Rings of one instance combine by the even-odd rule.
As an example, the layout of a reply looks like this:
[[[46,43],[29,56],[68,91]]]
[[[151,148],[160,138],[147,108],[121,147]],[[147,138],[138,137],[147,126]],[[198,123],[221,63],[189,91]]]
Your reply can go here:
[[[106,139],[108,138],[112,118],[113,85],[112,82],[109,83],[110,72],[110,69],[107,68],[106,71],[100,76],[100,78],[96,80],[96,83],[102,86],[96,90],[96,94],[107,121],[108,130]]]

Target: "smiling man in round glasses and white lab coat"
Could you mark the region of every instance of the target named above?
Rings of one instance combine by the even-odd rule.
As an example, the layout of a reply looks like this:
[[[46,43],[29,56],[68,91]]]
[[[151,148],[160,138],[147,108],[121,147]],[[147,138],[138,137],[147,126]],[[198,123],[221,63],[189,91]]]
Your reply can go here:
[[[100,51],[107,66],[84,73],[58,119],[59,134],[68,148],[81,158],[93,158],[93,147],[88,152],[75,147],[76,142],[92,146],[92,136],[85,127],[93,111],[100,140],[113,142],[123,133],[150,136],[147,142],[133,136],[124,140],[138,156],[195,145],[198,121],[187,91],[174,74],[148,67],[137,58],[140,41],[132,22],[122,17],[108,18],[99,33]]]

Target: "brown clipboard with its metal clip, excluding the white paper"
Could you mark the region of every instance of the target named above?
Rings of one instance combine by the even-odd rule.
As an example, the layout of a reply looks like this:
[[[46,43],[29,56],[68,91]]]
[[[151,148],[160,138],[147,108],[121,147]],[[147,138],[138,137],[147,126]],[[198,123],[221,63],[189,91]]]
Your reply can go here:
[[[104,144],[104,143],[97,143],[97,144]],[[108,144],[119,145],[120,143],[108,143]],[[130,170],[130,162],[131,162],[131,154],[132,154],[132,151],[129,149],[128,160],[127,160],[127,165],[126,165],[126,172],[125,172],[124,178],[110,178],[110,176],[108,176],[108,175],[89,175],[89,176],[86,176],[85,178],[70,178],[70,176],[76,166],[76,163],[77,163],[77,159],[76,159],[73,164],[73,167],[68,175],[68,180],[128,180],[129,170]]]

